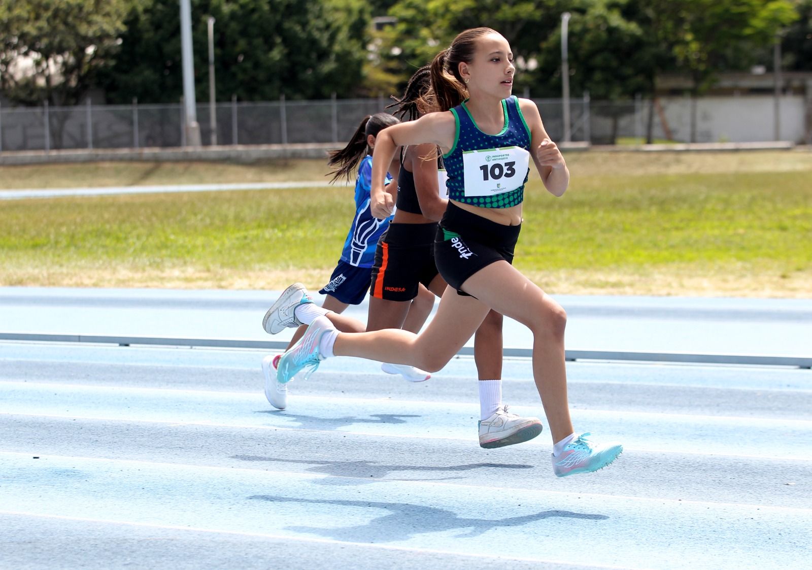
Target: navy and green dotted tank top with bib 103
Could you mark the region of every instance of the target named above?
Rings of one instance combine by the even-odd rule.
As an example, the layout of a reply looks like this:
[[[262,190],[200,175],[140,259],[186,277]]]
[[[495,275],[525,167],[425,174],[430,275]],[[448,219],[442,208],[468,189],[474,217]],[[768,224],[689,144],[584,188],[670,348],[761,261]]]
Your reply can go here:
[[[521,204],[529,175],[530,128],[516,96],[503,99],[504,127],[496,135],[479,130],[465,101],[451,109],[454,145],[443,154],[451,200],[484,208]]]

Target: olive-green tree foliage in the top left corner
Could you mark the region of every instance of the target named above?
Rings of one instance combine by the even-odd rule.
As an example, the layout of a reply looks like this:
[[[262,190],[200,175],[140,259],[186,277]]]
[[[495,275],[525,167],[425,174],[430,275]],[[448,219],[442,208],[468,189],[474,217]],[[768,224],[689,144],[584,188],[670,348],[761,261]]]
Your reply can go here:
[[[114,58],[133,1],[0,0],[3,94],[28,105],[78,103]]]

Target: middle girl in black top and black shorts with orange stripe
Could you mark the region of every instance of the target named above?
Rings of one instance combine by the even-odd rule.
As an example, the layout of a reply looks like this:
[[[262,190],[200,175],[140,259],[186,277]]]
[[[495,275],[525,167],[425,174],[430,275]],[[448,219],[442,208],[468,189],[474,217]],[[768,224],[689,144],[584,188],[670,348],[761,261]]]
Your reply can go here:
[[[392,106],[397,106],[395,115],[401,120],[412,121],[434,110],[430,66],[418,69],[403,96],[395,101]],[[437,166],[436,145],[411,145],[400,155],[397,207],[375,253],[366,330],[401,328],[421,284],[437,296],[447,287],[433,253],[437,222],[447,207],[445,180],[441,196]],[[299,307],[307,302],[306,296],[291,297],[289,303],[294,306],[283,312],[304,313],[307,309]],[[307,321],[304,314],[302,317]],[[477,328],[474,360],[479,374],[480,446],[503,447],[540,434],[542,422],[537,417],[520,417],[502,404],[502,315],[495,311]]]

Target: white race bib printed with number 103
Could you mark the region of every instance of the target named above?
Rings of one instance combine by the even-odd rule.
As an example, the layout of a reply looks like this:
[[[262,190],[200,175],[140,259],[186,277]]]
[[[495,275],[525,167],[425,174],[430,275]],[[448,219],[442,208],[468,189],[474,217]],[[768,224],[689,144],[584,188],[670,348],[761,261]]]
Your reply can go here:
[[[525,184],[530,153],[518,146],[462,153],[465,196],[495,196]]]

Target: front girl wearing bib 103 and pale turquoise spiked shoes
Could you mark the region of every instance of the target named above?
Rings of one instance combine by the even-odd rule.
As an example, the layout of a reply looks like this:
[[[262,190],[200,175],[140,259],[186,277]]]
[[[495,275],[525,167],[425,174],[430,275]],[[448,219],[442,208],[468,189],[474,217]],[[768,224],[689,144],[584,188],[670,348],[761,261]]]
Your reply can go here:
[[[323,359],[359,356],[443,367],[464,346],[490,309],[533,332],[533,378],[550,425],[553,472],[559,477],[590,473],[611,464],[618,443],[597,443],[572,429],[564,362],[564,309],[512,265],[521,205],[532,157],[542,183],[554,196],[569,184],[569,171],[544,129],[533,101],[511,96],[513,56],[508,41],[490,28],[461,32],[432,63],[438,106],[378,134],[373,161],[373,213],[388,217],[391,194],[383,183],[398,146],[430,143],[443,150],[448,171],[448,207],[440,222],[434,255],[449,287],[434,319],[420,335],[405,330],[339,333],[315,319],[279,361],[279,382]],[[459,105],[461,96],[468,99]]]

